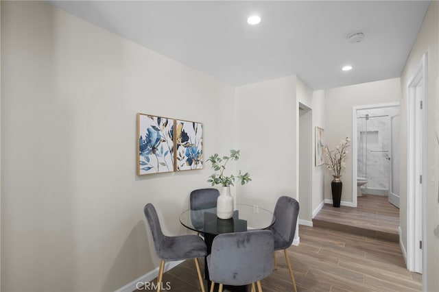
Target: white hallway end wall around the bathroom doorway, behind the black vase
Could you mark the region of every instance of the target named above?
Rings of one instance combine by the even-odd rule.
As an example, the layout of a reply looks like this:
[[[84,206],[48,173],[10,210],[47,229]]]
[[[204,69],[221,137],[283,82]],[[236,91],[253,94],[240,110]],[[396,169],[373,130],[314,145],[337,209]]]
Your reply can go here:
[[[355,84],[325,90],[326,128],[324,141],[330,149],[334,149],[340,140],[350,136],[352,138],[352,108],[353,106],[366,106],[370,104],[385,104],[401,99],[401,84],[399,78]],[[352,149],[348,149],[349,154]],[[346,169],[342,173],[342,203],[351,206],[352,193],[352,162],[348,154]],[[331,197],[331,173],[325,173],[324,196]]]

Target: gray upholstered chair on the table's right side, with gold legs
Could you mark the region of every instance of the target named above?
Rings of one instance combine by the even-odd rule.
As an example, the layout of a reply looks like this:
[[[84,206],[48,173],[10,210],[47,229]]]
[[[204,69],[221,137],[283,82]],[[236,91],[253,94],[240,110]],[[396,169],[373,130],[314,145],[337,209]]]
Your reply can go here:
[[[294,280],[291,263],[289,263],[287,249],[292,245],[294,240],[298,215],[299,203],[296,201],[296,199],[282,196],[277,200],[276,207],[274,208],[274,217],[276,218],[276,221],[274,221],[273,226],[267,228],[268,230],[271,230],[274,235],[274,250],[283,250],[285,254],[289,269],[289,276],[291,276],[294,291],[296,292],[296,280]],[[274,269],[277,269],[276,253],[274,253]]]

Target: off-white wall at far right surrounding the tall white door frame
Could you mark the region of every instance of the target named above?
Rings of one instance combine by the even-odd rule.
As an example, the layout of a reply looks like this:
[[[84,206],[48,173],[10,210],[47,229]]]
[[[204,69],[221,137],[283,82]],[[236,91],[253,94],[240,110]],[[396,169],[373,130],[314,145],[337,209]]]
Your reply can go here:
[[[427,53],[427,218],[426,237],[423,239],[423,252],[427,253],[427,277],[423,291],[439,291],[439,145],[436,134],[439,133],[439,2],[431,1],[416,41],[407,58],[401,75],[401,239],[407,247],[407,86],[416,74],[423,54]]]

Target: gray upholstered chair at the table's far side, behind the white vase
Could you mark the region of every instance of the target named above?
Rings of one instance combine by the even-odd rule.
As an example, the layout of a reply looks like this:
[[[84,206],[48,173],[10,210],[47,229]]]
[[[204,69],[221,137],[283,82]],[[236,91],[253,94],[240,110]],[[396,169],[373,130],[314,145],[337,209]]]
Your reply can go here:
[[[205,209],[216,208],[219,191],[216,188],[199,188],[191,191],[189,204],[191,206],[191,221],[195,228],[202,228]],[[200,212],[197,212],[200,210]]]

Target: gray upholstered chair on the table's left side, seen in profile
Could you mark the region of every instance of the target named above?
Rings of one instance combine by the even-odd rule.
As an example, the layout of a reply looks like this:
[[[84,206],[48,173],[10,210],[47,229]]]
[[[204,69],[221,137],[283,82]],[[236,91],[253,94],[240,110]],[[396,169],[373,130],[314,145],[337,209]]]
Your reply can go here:
[[[204,292],[200,263],[198,263],[198,258],[207,255],[207,248],[204,241],[196,235],[166,236],[162,232],[160,221],[158,221],[156,208],[154,208],[152,204],[147,204],[143,209],[143,212],[145,212],[145,217],[150,224],[152,239],[154,240],[154,247],[156,247],[157,255],[161,259],[157,278],[157,292],[160,292],[161,290],[165,261],[187,260],[189,258],[195,260],[198,280],[200,280],[200,287]]]

